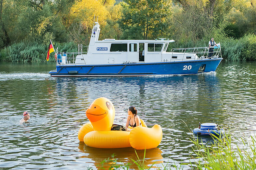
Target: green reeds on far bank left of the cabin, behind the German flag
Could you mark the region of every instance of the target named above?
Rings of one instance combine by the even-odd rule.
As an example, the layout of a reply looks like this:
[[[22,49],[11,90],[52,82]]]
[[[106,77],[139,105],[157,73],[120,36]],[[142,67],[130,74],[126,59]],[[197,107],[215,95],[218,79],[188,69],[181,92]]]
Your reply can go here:
[[[53,44],[55,50],[58,47],[60,52],[75,52],[77,51],[77,44],[73,42],[55,43]],[[15,61],[15,62],[40,62],[46,61],[46,55],[49,44],[39,44],[37,42],[19,42],[11,46],[5,47],[0,51],[0,60]],[[49,61],[54,60],[54,54],[51,53]]]

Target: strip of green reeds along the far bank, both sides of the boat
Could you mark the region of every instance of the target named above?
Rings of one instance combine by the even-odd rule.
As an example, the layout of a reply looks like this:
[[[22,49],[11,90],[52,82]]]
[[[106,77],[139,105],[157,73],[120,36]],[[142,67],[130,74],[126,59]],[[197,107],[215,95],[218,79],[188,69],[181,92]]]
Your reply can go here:
[[[207,40],[197,42],[172,42],[167,51],[172,48],[181,47],[203,47],[207,46]],[[77,52],[77,44],[74,42],[56,42],[54,47],[58,47],[60,52]],[[46,51],[48,44],[38,42],[19,42],[0,50],[1,61],[11,62],[46,62]],[[256,60],[256,36],[245,35],[240,39],[227,39],[221,42],[221,53],[224,60],[227,61],[255,61]],[[50,62],[55,62],[54,56],[49,58]]]

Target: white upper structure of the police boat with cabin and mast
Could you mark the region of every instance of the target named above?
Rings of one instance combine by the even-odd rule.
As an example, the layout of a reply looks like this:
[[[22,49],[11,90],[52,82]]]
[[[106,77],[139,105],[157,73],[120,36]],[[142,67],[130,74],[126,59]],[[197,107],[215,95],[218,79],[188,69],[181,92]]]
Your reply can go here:
[[[123,64],[123,63],[154,63],[198,60],[195,52],[186,52],[190,48],[176,48],[166,52],[170,42],[174,40],[115,40],[105,39],[99,41],[100,25],[95,22],[87,52],[82,52],[82,44],[78,45],[78,55],[62,57],[58,65],[70,65],[71,60],[75,65],[98,65],[98,64]],[[202,47],[200,47],[202,48]],[[203,47],[207,48],[207,47]],[[181,51],[182,49],[182,51]],[[185,49],[185,50],[183,50]],[[181,52],[180,52],[181,51]],[[188,51],[188,50],[187,50]],[[198,50],[196,50],[198,51]],[[207,49],[205,49],[207,53]],[[72,53],[69,53],[72,54]],[[72,63],[72,64],[73,64]]]

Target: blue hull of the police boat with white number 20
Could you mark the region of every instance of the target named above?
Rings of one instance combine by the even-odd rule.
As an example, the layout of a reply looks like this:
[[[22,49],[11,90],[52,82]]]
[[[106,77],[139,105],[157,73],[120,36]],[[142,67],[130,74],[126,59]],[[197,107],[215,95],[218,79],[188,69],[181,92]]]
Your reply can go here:
[[[223,58],[158,62],[125,63],[108,65],[57,65],[49,74],[57,76],[148,76],[148,75],[186,75],[215,71]],[[204,66],[204,70],[200,70]]]

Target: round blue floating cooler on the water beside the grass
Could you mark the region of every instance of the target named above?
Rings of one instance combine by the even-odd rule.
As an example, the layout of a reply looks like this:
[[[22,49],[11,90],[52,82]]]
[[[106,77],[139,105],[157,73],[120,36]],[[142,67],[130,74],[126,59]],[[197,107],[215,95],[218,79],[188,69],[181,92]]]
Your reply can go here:
[[[219,135],[224,135],[225,130],[221,129],[215,123],[203,123],[203,124],[199,123],[199,127],[194,128],[193,133],[197,134],[197,135],[215,135],[215,136],[219,136]]]

